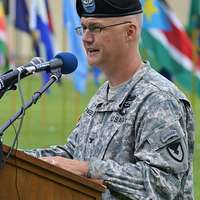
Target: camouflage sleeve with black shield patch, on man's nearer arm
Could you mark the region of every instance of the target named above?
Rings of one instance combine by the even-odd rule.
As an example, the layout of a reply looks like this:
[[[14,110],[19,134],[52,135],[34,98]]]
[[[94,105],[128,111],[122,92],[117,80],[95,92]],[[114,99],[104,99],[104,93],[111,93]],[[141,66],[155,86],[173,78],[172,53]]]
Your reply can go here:
[[[136,162],[120,165],[92,158],[88,176],[103,179],[111,191],[129,199],[178,197],[189,170],[182,107],[179,100],[166,94],[148,97],[134,121]]]

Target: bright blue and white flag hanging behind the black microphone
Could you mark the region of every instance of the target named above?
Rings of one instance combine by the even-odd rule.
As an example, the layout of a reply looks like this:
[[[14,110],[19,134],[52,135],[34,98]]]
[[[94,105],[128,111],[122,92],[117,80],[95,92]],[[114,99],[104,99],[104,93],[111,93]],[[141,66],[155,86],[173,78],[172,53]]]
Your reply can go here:
[[[47,0],[32,0],[30,13],[30,29],[35,38],[35,50],[37,56],[50,60],[55,55],[52,29],[49,24],[49,12]],[[49,13],[48,13],[49,12]],[[49,74],[43,73],[44,84],[49,80]]]

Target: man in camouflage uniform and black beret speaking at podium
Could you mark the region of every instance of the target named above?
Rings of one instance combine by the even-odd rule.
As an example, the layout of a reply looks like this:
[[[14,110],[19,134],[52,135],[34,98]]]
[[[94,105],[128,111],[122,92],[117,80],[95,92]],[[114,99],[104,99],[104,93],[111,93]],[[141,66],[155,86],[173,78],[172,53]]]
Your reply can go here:
[[[139,0],[77,0],[88,62],[107,80],[64,146],[27,153],[100,179],[104,200],[193,199],[190,102],[142,61]]]

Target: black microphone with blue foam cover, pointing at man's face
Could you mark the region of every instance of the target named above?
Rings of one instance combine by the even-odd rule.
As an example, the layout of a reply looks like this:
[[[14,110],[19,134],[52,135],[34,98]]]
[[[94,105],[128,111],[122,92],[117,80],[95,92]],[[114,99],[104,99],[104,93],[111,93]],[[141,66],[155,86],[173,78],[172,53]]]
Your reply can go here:
[[[40,57],[33,58],[30,63],[22,65],[15,70],[10,70],[0,76],[0,91],[11,89],[18,81],[18,74],[20,78],[29,76],[35,72],[51,72],[51,70],[59,69],[62,74],[69,74],[76,70],[78,61],[72,53],[62,52],[55,56],[50,61],[44,62]]]

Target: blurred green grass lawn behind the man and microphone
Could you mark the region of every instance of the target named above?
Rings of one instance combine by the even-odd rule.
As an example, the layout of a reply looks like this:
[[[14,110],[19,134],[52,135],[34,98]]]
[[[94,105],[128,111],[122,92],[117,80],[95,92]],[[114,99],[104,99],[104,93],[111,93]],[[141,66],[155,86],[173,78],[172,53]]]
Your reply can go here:
[[[25,100],[29,100],[33,93],[40,88],[39,77],[22,80]],[[45,94],[25,113],[23,127],[18,140],[18,148],[30,149],[47,147],[54,144],[65,144],[68,134],[75,126],[81,112],[87,105],[96,87],[89,81],[87,93],[79,96],[74,92],[71,80],[62,79],[62,84],[54,84],[50,94]],[[194,102],[194,101],[193,101]],[[0,125],[2,126],[20,108],[20,98],[17,91],[8,91],[0,103]],[[200,100],[195,98],[194,111],[196,119],[196,139],[194,154],[194,185],[195,199],[200,199]],[[18,127],[19,120],[15,122]],[[15,132],[10,126],[5,132],[3,143],[12,145]]]

